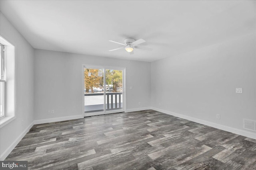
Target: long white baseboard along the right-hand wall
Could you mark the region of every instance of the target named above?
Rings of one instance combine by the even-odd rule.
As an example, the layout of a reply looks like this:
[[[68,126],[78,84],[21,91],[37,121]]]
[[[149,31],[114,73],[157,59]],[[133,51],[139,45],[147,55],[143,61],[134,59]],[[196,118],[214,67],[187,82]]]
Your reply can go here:
[[[210,122],[210,121],[197,119],[197,118],[194,118],[194,117],[182,115],[182,114],[179,114],[179,113],[174,113],[172,111],[167,111],[167,110],[159,109],[159,108],[156,108],[156,107],[151,107],[151,109],[155,110],[155,111],[162,112],[162,113],[166,113],[168,115],[180,117],[182,119],[186,119],[186,120],[194,121],[196,123],[200,123],[200,124],[203,124],[203,125],[214,127],[216,129],[220,129],[220,130],[223,130],[223,131],[228,131],[228,132],[231,132],[231,133],[235,133],[237,135],[242,135],[242,136],[245,136],[245,137],[256,139],[256,133],[253,133],[253,132],[244,131],[244,130],[241,130],[241,129],[236,129],[236,128],[225,126],[225,125],[220,125],[220,124],[213,123],[213,122]]]

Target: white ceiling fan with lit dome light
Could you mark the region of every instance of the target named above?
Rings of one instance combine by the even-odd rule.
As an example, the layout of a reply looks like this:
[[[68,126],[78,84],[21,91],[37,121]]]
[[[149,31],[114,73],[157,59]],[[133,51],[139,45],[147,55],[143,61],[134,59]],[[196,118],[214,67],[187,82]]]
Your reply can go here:
[[[118,49],[112,49],[112,50],[109,50],[109,51],[125,49],[130,54],[133,54],[133,49],[136,48],[136,45],[139,45],[141,43],[146,42],[144,39],[138,39],[138,40],[135,41],[135,39],[132,39],[132,38],[125,39],[124,43],[119,43],[119,42],[112,41],[112,40],[109,40],[109,41],[112,42],[112,43],[117,43],[117,44],[124,45],[124,47],[121,47],[121,48],[118,48]]]

